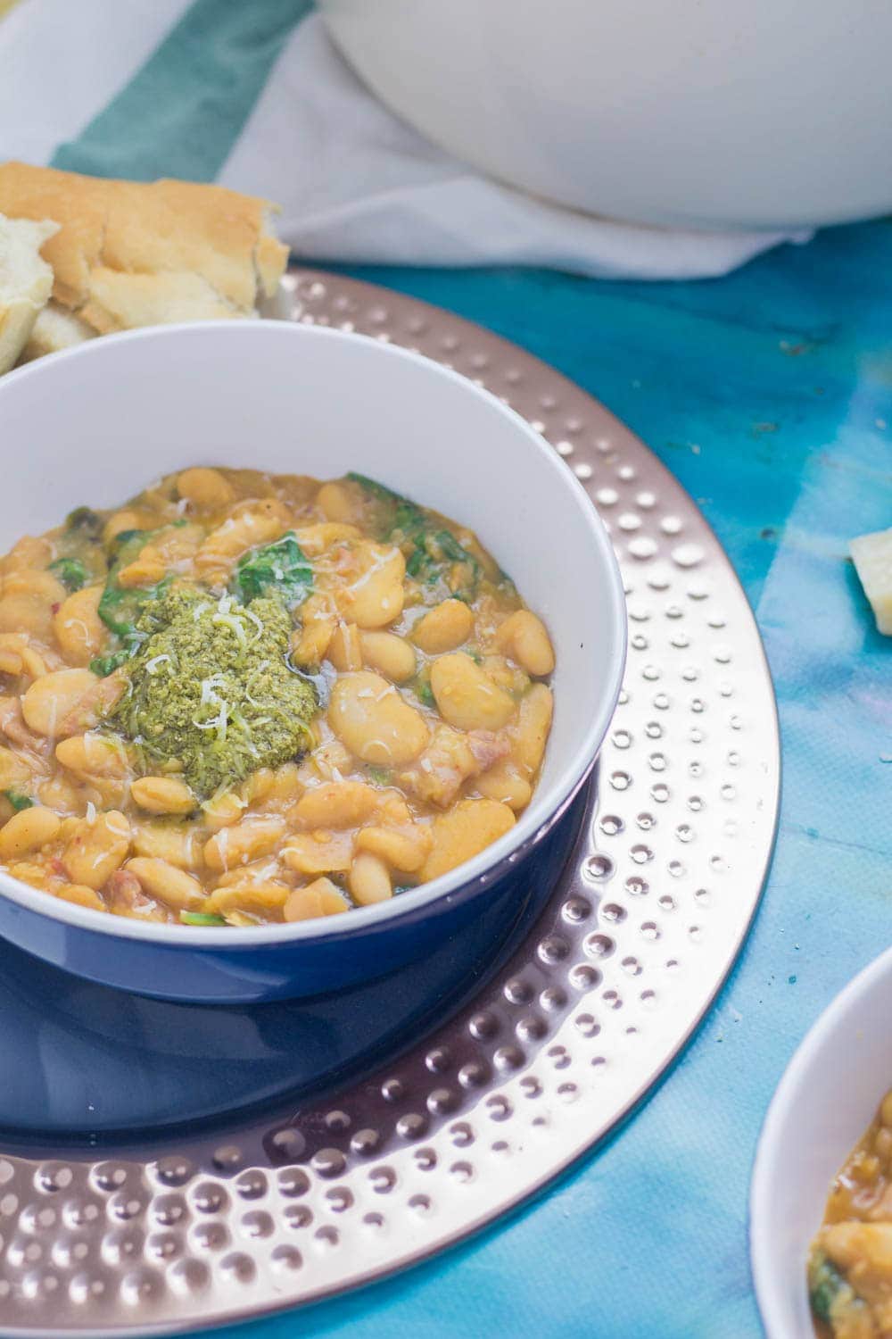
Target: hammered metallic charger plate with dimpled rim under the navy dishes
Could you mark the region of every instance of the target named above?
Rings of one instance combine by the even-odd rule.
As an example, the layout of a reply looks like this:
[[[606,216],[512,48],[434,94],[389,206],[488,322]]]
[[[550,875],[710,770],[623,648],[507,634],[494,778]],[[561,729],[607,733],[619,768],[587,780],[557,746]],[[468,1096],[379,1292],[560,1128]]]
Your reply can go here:
[[[381,1277],[489,1223],[655,1082],[722,984],[766,873],[774,696],[749,605],[687,494],[600,404],[479,327],[353,280],[297,270],[288,284],[292,319],[417,348],[504,398],[588,490],[630,617],[599,794],[507,967],[334,1099],[139,1148],[90,1130],[62,1154],[0,1141],[4,1334],[223,1324]]]

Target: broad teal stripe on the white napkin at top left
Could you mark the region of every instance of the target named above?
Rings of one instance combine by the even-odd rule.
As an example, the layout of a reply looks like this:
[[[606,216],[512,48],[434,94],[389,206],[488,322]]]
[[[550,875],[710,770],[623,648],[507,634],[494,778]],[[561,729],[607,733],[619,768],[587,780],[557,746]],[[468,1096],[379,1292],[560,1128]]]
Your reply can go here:
[[[53,167],[213,181],[312,0],[197,0]]]

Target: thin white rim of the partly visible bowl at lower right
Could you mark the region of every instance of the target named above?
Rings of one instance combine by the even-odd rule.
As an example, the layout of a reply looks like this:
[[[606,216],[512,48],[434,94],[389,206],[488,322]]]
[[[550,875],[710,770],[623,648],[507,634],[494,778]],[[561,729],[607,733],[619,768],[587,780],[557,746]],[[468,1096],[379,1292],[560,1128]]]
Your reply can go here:
[[[749,1198],[749,1247],[753,1265],[753,1283],[756,1284],[756,1297],[762,1315],[762,1322],[769,1339],[786,1339],[784,1304],[784,1284],[777,1268],[777,1260],[772,1253],[768,1237],[758,1237],[758,1225],[765,1223],[773,1208],[774,1200],[774,1169],[778,1146],[782,1137],[782,1126],[790,1106],[800,1098],[806,1075],[810,1073],[816,1055],[818,1055],[836,1031],[840,1018],[849,1014],[852,1008],[869,995],[879,980],[892,975],[892,948],[868,963],[859,975],[845,986],[834,999],[826,1006],[817,1022],[800,1042],[793,1059],[786,1066],[784,1077],[777,1086],[768,1115],[758,1137],[756,1161],[753,1164],[753,1177],[750,1182]],[[840,1162],[848,1149],[840,1150]],[[817,1231],[817,1223],[814,1224]],[[802,1259],[805,1271],[805,1259]],[[805,1272],[802,1272],[802,1287],[805,1287]]]

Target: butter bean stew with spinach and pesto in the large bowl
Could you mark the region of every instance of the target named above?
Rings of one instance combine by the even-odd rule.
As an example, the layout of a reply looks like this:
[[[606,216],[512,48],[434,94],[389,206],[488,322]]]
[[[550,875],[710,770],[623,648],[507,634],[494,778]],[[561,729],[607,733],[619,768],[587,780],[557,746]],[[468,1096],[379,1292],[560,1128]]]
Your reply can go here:
[[[469,530],[364,475],[79,507],[0,560],[0,868],[173,924],[384,901],[511,829],[554,663]]]

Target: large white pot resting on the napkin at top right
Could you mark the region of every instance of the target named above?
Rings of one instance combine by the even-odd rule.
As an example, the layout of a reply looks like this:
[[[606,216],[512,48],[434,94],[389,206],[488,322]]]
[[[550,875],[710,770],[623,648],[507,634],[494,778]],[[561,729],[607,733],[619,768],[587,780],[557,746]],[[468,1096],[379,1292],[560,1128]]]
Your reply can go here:
[[[892,208],[888,0],[320,0],[368,84],[484,171],[641,222]]]

